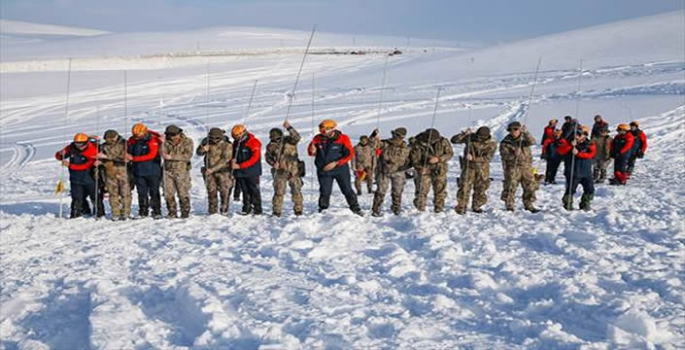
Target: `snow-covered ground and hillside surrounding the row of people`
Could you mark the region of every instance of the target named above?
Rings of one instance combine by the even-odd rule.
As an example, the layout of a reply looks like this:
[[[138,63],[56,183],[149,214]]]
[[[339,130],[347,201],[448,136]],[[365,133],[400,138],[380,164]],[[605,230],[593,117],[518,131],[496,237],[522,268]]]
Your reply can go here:
[[[206,57],[167,57],[160,67],[141,56],[192,46],[197,33],[150,52],[142,43],[162,34],[62,28],[89,36],[54,39],[20,27],[2,44],[12,62],[3,59],[0,81],[0,349],[685,348],[684,15],[466,53],[435,46],[390,58],[307,58],[289,116],[306,139],[324,118],[354,138],[377,126],[417,133],[431,124],[439,87],[435,126],[448,137],[489,125],[501,139],[513,120],[537,137],[566,114],[640,120],[645,159],[629,186],[600,186],[590,213],[562,210],[561,185],[538,191],[542,213],[502,211],[496,157],[486,215],[418,213],[413,184],[401,217],[356,217],[342,197],[319,215],[308,176],[303,217],[241,217],[238,204],[228,219],[205,217],[195,166],[193,217],[123,223],[55,218],[63,173],[52,155],[74,132],[176,123],[197,142],[209,127],[245,122],[266,140],[284,119],[301,53],[278,52],[278,33],[258,32],[270,41],[245,48],[270,53],[210,58],[207,94]],[[246,38],[244,29],[211,32],[233,38],[232,48]],[[301,45],[308,33],[281,35]],[[340,46],[341,37],[317,37],[315,46]],[[121,49],[119,63],[103,58],[131,38],[138,46]],[[383,40],[368,46],[388,46]],[[59,47],[81,55],[66,120]],[[458,174],[453,161],[450,205]],[[371,196],[361,203],[368,210]]]

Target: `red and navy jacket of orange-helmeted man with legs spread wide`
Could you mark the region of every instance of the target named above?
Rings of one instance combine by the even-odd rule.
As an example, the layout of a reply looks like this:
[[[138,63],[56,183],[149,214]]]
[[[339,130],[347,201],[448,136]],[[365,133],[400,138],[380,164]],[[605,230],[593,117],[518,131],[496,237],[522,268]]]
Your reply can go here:
[[[316,147],[316,154],[309,153],[309,156],[315,157],[314,164],[316,164],[319,176],[333,176],[350,171],[349,162],[354,157],[354,148],[347,135],[338,130],[335,130],[331,137],[318,134],[314,136],[307,150],[312,145]],[[331,162],[336,162],[338,165],[331,171],[324,171],[323,168]]]

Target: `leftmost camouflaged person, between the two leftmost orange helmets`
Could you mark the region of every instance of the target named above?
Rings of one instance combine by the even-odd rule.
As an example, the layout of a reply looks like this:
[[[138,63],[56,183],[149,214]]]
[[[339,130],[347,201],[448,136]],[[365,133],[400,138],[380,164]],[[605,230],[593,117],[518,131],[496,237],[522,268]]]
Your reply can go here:
[[[105,131],[104,139],[98,159],[104,168],[112,220],[123,221],[131,217],[131,184],[126,165],[126,140],[112,129]]]

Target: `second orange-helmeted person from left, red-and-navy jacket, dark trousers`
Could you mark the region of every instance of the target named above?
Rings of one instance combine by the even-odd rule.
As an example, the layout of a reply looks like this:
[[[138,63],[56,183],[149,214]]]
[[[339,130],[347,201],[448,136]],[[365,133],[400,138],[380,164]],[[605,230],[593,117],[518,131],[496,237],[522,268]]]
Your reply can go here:
[[[162,138],[159,133],[148,130],[143,123],[131,128],[126,158],[133,163],[133,176],[138,192],[138,215],[147,217],[152,209],[154,219],[162,218],[162,203],[159,192],[162,179],[162,160],[159,154]]]

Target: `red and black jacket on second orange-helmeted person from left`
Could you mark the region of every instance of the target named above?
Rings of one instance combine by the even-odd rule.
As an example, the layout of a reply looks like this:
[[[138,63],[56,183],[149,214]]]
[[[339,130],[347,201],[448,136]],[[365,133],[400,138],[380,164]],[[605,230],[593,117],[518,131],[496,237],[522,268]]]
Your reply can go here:
[[[140,177],[161,176],[162,158],[159,149],[162,137],[151,130],[141,138],[130,137],[126,143],[133,162],[133,174]]]

